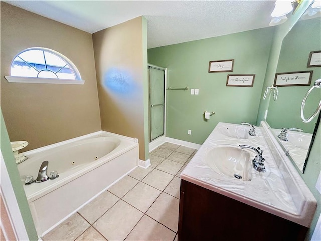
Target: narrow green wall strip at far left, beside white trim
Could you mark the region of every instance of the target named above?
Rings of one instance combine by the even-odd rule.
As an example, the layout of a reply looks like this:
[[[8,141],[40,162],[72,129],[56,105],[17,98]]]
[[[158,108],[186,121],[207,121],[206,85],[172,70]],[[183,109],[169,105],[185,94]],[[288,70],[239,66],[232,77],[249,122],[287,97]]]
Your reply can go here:
[[[28,201],[25,195],[24,188],[21,184],[20,175],[17,164],[10,146],[9,136],[6,129],[5,121],[0,110],[0,149],[4,157],[5,165],[9,174],[9,178],[16,195],[18,206],[21,212],[22,219],[25,223],[26,231],[29,240],[38,240],[36,228],[30,213]],[[4,167],[2,167],[4,168]]]

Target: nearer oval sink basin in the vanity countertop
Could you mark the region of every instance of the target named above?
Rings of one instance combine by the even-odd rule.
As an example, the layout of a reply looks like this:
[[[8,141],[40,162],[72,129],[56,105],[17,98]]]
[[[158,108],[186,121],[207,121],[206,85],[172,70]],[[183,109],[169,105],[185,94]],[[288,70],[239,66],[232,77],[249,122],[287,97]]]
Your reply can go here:
[[[216,146],[207,150],[205,161],[216,173],[233,179],[250,181],[250,153],[236,146]]]

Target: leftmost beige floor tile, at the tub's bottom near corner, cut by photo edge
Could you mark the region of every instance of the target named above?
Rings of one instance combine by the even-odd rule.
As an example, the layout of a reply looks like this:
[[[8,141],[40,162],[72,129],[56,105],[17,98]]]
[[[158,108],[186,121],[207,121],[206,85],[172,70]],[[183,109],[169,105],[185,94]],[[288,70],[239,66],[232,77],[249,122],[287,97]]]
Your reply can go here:
[[[59,224],[56,228],[43,236],[42,240],[73,241],[77,237],[79,237],[79,235],[82,234],[88,227],[90,227],[90,224],[86,222],[86,220],[83,219],[78,213],[75,213],[66,221]]]

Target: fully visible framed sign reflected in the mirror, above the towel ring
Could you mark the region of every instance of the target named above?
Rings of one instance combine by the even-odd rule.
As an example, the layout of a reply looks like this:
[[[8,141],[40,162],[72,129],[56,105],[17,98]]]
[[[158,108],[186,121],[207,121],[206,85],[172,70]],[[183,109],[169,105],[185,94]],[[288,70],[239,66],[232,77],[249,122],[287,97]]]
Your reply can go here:
[[[313,71],[276,73],[274,86],[305,86],[311,84]]]

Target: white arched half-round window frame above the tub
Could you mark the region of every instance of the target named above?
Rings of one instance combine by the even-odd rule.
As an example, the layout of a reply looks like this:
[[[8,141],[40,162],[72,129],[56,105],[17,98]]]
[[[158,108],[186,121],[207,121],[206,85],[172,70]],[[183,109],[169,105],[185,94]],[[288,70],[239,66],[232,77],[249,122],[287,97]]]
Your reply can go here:
[[[11,61],[10,64],[10,74],[11,74],[11,67],[13,65],[13,62],[15,61],[16,57],[18,57],[20,54],[30,51],[30,50],[42,50],[45,52],[49,52],[51,54],[54,54],[61,58],[63,61],[65,61],[69,67],[72,69],[74,72],[75,78],[76,79],[59,79],[59,78],[40,78],[40,77],[25,77],[25,76],[4,76],[5,79],[9,83],[37,83],[37,84],[84,84],[85,81],[81,79],[80,73],[77,69],[77,67],[74,65],[73,62],[70,61],[66,56],[62,55],[61,53],[48,49],[48,48],[43,48],[43,47],[32,47],[32,48],[27,48],[24,49],[23,51],[19,52],[18,54],[15,55],[13,60]]]

